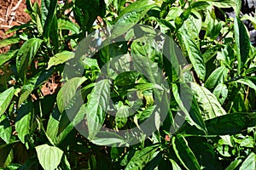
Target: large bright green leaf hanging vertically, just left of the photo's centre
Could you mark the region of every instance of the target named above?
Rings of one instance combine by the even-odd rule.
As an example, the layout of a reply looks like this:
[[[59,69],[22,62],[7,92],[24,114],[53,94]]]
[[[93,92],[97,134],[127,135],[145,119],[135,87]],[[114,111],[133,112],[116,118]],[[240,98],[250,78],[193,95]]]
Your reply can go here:
[[[103,79],[92,89],[86,105],[86,119],[88,123],[89,139],[93,139],[105,121],[110,92],[110,81]]]

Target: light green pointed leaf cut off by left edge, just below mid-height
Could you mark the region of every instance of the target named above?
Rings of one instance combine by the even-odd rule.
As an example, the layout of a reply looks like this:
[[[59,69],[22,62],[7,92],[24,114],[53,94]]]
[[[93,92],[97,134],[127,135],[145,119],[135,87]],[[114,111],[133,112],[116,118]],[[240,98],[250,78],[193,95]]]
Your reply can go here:
[[[4,111],[8,108],[15,94],[15,88],[8,88],[0,94],[0,116],[3,115]]]

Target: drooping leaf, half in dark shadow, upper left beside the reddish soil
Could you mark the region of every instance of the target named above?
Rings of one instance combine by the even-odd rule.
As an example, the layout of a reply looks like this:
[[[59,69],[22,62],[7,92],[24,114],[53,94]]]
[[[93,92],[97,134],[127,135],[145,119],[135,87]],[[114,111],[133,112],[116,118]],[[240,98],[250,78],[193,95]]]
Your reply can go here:
[[[22,80],[26,79],[26,70],[31,65],[42,42],[43,40],[33,37],[27,40],[19,49],[16,58],[16,67]]]

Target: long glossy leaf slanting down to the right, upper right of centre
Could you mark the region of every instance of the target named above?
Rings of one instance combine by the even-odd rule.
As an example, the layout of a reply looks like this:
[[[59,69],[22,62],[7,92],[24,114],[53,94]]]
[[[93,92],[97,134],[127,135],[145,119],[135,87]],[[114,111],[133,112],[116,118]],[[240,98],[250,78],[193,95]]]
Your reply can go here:
[[[182,40],[188,54],[189,59],[195,69],[196,74],[201,80],[206,77],[206,65],[204,63],[200,49],[196,46],[195,42],[184,31],[178,34]]]

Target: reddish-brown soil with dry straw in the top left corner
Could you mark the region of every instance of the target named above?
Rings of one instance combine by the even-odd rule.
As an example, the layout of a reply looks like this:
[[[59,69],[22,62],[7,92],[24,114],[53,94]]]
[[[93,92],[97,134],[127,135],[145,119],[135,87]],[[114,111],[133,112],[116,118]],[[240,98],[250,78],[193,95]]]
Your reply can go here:
[[[26,0],[1,0],[0,1],[0,41],[12,34],[5,32],[12,26],[20,26],[30,20],[26,14]],[[9,50],[9,47],[0,48],[0,54]]]

